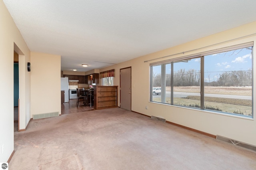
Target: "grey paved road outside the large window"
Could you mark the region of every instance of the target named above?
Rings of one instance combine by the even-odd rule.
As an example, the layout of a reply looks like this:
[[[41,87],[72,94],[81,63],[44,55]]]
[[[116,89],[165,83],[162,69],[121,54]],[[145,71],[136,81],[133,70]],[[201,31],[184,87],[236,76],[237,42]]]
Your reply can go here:
[[[188,96],[200,96],[200,93],[188,93],[188,92],[174,92],[173,97],[188,97]],[[252,100],[251,96],[240,96],[240,95],[220,95],[220,94],[208,94],[205,93],[206,97],[221,97],[221,98],[230,98],[230,99],[247,99],[247,100]],[[171,92],[166,91],[166,97],[170,98],[171,97]],[[161,95],[154,95],[153,98],[161,98]]]

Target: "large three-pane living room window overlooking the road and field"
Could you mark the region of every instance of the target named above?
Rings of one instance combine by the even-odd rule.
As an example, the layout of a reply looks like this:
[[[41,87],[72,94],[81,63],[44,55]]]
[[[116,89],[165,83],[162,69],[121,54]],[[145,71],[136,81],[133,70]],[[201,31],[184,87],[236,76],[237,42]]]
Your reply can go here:
[[[253,117],[252,49],[245,43],[151,63],[150,101]]]

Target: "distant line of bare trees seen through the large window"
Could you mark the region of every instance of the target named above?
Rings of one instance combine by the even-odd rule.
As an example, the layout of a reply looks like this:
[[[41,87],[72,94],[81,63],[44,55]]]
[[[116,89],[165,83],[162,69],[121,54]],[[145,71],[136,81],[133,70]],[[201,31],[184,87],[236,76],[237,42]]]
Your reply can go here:
[[[211,74],[207,73],[204,77],[205,86],[252,86],[252,70],[226,71],[221,74]],[[161,74],[154,74],[152,82],[153,87],[161,86]],[[173,85],[174,87],[200,86],[200,71],[194,69],[175,71]],[[171,86],[171,74],[166,74],[166,87],[168,86]]]

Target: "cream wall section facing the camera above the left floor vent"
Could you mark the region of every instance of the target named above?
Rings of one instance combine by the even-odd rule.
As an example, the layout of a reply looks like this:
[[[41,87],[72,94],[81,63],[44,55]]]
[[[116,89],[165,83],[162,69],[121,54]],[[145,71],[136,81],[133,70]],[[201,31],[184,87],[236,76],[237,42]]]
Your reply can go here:
[[[31,52],[31,118],[61,114],[60,55]]]

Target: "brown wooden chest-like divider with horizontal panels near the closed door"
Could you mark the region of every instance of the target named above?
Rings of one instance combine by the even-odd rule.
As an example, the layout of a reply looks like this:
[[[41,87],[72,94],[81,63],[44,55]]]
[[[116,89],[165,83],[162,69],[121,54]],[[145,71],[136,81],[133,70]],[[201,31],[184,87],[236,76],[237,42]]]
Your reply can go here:
[[[118,107],[118,86],[94,86],[94,109]]]

